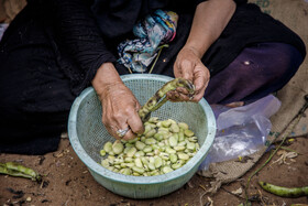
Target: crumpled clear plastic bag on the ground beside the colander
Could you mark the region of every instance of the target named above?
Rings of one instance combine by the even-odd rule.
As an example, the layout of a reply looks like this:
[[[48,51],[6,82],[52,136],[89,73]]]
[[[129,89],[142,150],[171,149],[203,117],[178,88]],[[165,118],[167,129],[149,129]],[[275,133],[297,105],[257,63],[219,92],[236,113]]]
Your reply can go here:
[[[217,133],[199,170],[207,170],[212,162],[223,162],[258,151],[272,128],[270,117],[278,111],[280,105],[273,95],[237,108],[212,105]]]

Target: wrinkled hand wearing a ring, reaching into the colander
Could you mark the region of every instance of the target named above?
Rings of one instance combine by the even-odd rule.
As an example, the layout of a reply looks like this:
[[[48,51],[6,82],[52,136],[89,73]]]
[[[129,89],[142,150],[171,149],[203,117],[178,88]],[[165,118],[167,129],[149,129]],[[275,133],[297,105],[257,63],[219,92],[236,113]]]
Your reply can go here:
[[[105,63],[98,69],[92,86],[102,105],[102,123],[117,139],[133,139],[143,133],[143,123],[138,115],[141,108],[132,91],[123,84],[112,63]],[[129,131],[119,137],[118,130]]]

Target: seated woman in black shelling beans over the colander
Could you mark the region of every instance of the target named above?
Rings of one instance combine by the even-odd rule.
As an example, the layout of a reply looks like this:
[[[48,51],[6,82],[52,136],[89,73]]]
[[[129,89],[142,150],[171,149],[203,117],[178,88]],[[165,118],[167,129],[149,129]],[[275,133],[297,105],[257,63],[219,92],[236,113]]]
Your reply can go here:
[[[151,63],[140,71],[121,57],[121,45],[139,39],[140,22],[161,22],[156,11],[173,23],[166,23],[172,37],[152,50]],[[141,28],[146,31],[146,24]],[[72,104],[89,86],[114,138],[143,132],[140,104],[120,75],[183,77],[196,95],[177,89],[167,95],[173,101],[205,97],[241,106],[280,89],[305,56],[296,33],[244,0],[29,0],[0,42],[0,152],[57,150]]]

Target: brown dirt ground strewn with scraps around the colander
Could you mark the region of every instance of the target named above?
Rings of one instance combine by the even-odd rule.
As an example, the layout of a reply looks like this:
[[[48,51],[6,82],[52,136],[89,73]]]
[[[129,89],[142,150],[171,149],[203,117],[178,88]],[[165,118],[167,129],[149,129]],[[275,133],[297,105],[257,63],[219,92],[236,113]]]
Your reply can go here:
[[[308,185],[308,137],[296,138],[286,148],[299,153],[285,163],[273,160],[252,178],[249,194],[254,198],[253,205],[290,205],[308,204],[307,197],[282,198],[264,192],[257,181],[268,182],[287,187]],[[289,151],[287,151],[289,152]],[[261,161],[242,178],[223,185],[217,194],[205,195],[210,181],[196,174],[178,191],[153,199],[131,199],[116,195],[98,184],[88,172],[85,164],[75,154],[68,139],[63,139],[58,151],[46,155],[0,154],[0,162],[15,161],[30,166],[43,174],[43,182],[36,183],[28,178],[0,175],[1,205],[107,205],[107,206],[204,206],[239,205],[243,203],[244,193],[240,197],[230,194],[239,188],[244,191],[248,177],[258,169],[270,156],[267,152]]]

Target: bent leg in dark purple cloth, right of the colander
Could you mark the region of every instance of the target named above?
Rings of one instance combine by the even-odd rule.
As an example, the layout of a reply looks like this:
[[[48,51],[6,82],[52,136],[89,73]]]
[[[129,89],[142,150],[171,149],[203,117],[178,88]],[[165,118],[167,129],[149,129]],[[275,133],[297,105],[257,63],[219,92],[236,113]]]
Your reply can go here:
[[[205,98],[209,104],[251,102],[277,91],[302,63],[300,53],[283,43],[260,43],[243,52],[211,77]]]

